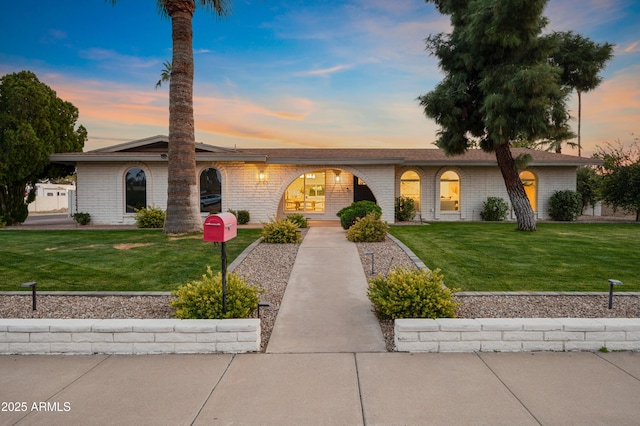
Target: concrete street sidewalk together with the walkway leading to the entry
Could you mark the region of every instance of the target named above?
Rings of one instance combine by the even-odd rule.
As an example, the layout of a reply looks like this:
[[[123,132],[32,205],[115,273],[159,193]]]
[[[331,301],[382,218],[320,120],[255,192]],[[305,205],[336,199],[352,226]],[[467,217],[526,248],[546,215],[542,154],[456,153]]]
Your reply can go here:
[[[638,352],[384,352],[352,249],[310,229],[268,353],[0,356],[0,425],[638,424]]]

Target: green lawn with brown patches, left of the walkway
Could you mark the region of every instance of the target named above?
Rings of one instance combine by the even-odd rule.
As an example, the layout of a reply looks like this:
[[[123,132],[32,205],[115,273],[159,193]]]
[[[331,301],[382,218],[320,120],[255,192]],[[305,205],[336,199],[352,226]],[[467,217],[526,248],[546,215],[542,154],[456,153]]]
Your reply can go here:
[[[227,242],[231,263],[260,236],[240,229]],[[171,291],[220,270],[220,245],[202,235],[168,237],[160,230],[0,231],[0,291],[37,281],[49,291]]]

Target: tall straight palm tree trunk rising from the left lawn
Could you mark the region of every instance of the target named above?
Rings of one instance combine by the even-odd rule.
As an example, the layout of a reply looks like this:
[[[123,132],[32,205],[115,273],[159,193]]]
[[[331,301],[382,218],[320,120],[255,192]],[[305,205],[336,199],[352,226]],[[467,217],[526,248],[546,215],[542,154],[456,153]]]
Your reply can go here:
[[[166,1],[173,59],[169,81],[169,156],[165,234],[202,231],[193,119],[194,0]]]

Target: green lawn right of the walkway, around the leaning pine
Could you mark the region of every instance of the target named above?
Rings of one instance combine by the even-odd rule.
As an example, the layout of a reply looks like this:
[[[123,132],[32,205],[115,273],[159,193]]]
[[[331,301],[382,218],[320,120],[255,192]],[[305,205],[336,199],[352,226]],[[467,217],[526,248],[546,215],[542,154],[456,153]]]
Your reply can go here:
[[[392,226],[447,286],[463,291],[640,291],[640,224],[431,223]]]

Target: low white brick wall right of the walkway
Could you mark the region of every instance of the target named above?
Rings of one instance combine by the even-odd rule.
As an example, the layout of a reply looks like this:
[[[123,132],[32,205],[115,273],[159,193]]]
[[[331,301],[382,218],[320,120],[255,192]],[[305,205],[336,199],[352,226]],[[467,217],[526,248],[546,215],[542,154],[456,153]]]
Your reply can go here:
[[[397,319],[399,352],[640,350],[640,318]]]

